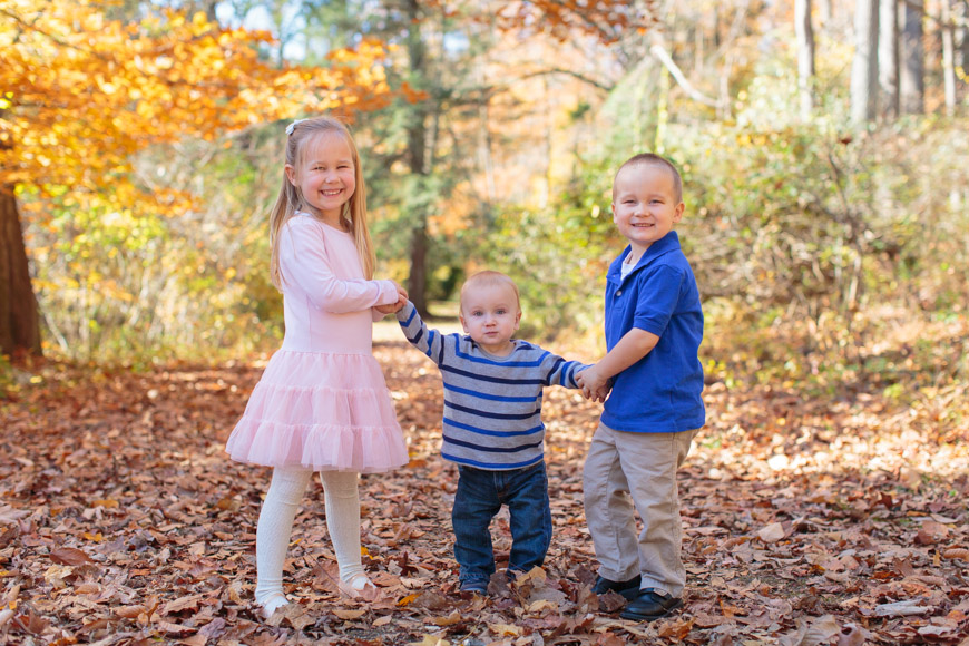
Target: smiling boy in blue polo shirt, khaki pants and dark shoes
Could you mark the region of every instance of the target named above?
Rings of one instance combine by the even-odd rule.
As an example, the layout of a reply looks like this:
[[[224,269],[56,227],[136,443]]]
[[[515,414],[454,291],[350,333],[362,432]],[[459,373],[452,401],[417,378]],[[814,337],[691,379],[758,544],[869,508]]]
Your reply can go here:
[[[629,245],[606,276],[608,353],[578,374],[606,398],[583,473],[586,521],[599,561],[594,590],[629,599],[621,616],[658,619],[686,584],[676,470],[705,423],[703,311],[673,226],[683,217],[679,173],[653,154],[626,161],[613,183],[613,221]],[[643,520],[636,536],[635,510]]]

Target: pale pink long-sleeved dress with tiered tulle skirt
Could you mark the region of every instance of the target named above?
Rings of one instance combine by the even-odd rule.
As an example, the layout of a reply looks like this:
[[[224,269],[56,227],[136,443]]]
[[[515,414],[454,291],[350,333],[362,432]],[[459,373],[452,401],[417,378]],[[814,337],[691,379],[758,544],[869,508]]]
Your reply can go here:
[[[226,443],[233,460],[314,471],[389,471],[408,462],[371,307],[395,303],[368,281],[352,234],[297,213],[280,232],[286,334]]]

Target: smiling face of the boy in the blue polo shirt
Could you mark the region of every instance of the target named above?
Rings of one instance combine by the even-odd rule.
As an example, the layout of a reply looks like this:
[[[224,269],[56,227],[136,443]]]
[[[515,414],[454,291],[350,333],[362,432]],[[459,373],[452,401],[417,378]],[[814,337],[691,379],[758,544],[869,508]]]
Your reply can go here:
[[[642,255],[673,229],[683,217],[683,202],[675,193],[673,173],[654,164],[626,166],[613,186],[613,222]]]

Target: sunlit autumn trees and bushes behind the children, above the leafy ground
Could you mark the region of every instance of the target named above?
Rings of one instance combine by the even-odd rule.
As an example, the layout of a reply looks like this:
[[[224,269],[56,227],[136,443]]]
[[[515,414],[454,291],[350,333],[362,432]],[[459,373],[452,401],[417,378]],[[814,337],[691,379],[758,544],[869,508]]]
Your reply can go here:
[[[8,354],[271,348],[277,119],[324,109],[354,123],[383,271],[424,312],[500,263],[534,332],[595,330],[609,175],[648,148],[686,176],[714,316],[797,327],[809,358],[857,351],[887,317],[963,321],[965,2],[10,0],[0,16]]]

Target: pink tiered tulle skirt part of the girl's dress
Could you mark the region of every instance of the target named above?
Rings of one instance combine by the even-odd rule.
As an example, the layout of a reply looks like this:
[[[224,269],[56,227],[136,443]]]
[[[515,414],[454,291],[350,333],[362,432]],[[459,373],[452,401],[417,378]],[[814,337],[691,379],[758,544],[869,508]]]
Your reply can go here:
[[[390,471],[407,444],[371,354],[277,351],[225,448],[233,460],[314,471]]]

